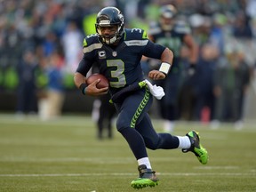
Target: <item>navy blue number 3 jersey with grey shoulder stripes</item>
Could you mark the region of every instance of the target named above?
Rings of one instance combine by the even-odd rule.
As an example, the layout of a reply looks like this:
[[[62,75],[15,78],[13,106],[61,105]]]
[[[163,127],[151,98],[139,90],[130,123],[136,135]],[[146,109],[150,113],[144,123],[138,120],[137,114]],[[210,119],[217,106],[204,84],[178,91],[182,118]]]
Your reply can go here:
[[[142,55],[161,59],[165,47],[148,40],[147,34],[140,28],[125,28],[124,36],[117,46],[101,44],[98,36],[84,38],[84,57],[76,72],[86,76],[93,64],[100,69],[100,74],[108,78],[109,91],[120,89],[143,80],[140,67]]]

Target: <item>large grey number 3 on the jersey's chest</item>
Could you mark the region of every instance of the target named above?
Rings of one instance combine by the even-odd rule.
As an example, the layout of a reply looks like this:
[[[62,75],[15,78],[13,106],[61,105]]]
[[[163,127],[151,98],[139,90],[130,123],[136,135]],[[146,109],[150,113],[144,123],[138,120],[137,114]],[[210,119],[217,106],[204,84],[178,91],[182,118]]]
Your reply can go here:
[[[109,82],[110,86],[114,88],[124,87],[124,85],[126,84],[126,79],[124,76],[123,60],[107,60],[107,67],[116,67],[116,70],[110,71],[110,76],[116,79],[115,82]]]

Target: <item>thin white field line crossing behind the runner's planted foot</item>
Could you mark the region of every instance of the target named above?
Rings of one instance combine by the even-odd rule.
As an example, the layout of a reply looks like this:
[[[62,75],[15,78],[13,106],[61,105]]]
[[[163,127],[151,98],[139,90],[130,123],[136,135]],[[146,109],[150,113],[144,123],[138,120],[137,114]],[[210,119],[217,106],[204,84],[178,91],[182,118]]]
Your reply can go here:
[[[87,177],[87,176],[133,176],[137,173],[49,173],[49,174],[0,174],[0,177]],[[220,173],[196,173],[196,172],[185,172],[185,173],[171,173],[171,172],[158,172],[158,175],[165,176],[256,176],[255,172],[241,173],[241,172],[220,172]]]

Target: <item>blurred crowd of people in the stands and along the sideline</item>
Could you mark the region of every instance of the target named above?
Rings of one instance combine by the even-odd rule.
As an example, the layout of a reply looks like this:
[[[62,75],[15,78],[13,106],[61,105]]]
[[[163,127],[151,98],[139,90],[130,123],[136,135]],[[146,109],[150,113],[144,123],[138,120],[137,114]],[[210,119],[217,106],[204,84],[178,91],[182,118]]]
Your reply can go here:
[[[180,93],[180,119],[241,123],[255,78],[256,0],[2,0],[0,92],[17,92],[17,113],[59,116],[97,12],[117,6],[126,28],[148,30],[164,4],[177,7],[199,46],[192,91]],[[180,55],[186,65],[186,46]]]

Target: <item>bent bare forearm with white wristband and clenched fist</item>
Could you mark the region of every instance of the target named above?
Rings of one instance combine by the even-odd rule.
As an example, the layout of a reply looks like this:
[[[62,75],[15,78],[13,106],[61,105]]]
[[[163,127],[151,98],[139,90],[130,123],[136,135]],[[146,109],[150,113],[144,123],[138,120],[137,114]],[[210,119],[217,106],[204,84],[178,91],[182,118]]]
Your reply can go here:
[[[154,80],[160,80],[164,79],[171,67],[172,67],[172,60],[173,60],[173,52],[169,48],[165,48],[164,52],[161,54],[161,59],[162,61],[160,68],[158,70],[151,70],[148,73],[148,77]]]

